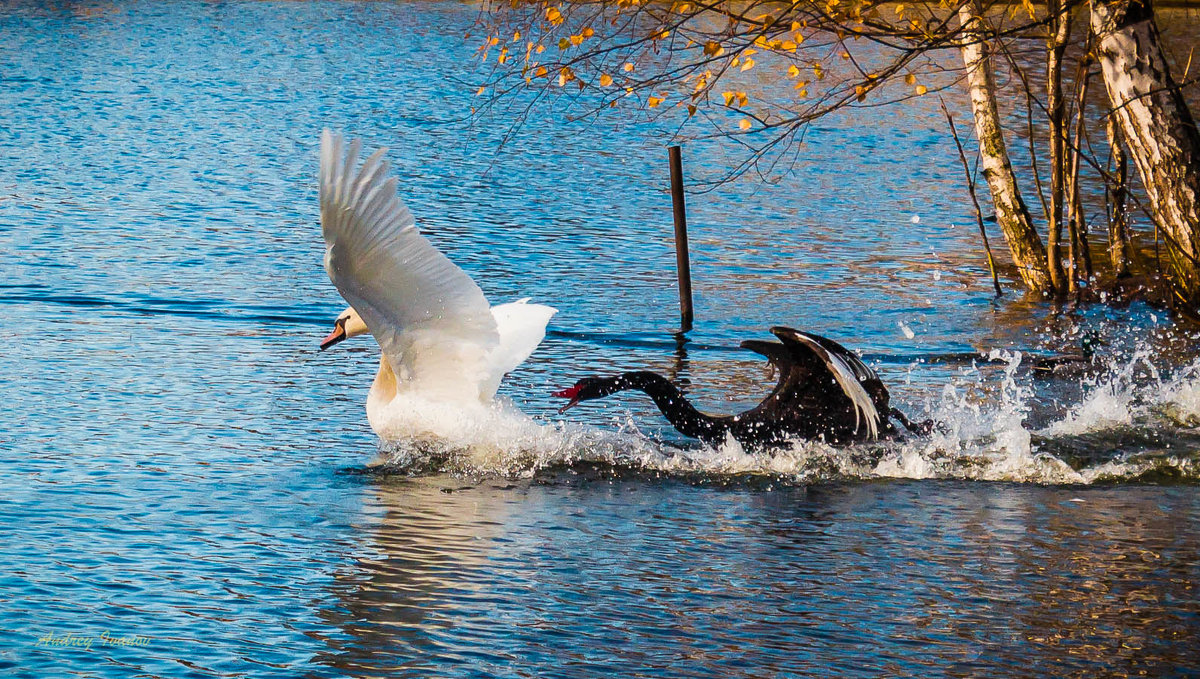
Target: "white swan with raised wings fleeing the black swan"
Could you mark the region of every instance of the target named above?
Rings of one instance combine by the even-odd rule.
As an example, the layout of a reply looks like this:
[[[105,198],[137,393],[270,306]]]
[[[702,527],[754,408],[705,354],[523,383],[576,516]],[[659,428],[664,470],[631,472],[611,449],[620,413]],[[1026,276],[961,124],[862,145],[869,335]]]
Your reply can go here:
[[[358,164],[360,143],[320,137],[325,271],[347,308],[326,349],[371,332],[382,356],[367,420],[384,439],[445,438],[494,419],[504,374],[541,343],[557,310],[528,299],[488,307],[479,286],[416,230],[388,176],[386,149]]]

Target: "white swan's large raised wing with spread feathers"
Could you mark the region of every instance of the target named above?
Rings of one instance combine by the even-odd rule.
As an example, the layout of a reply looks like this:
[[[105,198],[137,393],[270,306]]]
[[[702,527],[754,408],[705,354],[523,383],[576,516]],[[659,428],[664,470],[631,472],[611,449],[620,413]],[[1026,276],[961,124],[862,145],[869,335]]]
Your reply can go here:
[[[487,357],[499,342],[479,286],[416,230],[380,149],[320,137],[325,271],[379,342],[401,381],[430,395],[488,398]],[[448,391],[454,393],[448,393]]]

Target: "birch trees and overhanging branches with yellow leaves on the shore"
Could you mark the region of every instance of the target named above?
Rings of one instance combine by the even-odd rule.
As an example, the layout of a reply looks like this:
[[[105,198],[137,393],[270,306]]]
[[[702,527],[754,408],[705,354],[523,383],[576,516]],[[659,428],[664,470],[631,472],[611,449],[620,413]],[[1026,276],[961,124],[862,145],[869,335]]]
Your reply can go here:
[[[532,90],[527,116],[569,97],[581,116],[678,121],[676,142],[744,150],[718,182],[786,172],[780,158],[824,115],[925,96],[946,110],[953,97],[972,118],[954,136],[984,205],[982,250],[979,211],[1004,236],[996,265],[1010,281],[1075,304],[1141,299],[1195,323],[1200,132],[1184,92],[1200,84],[1200,44],[1171,54],[1157,23],[1192,10],[1200,2],[508,0],[485,5],[482,36],[468,40],[481,38],[490,67],[476,114]]]

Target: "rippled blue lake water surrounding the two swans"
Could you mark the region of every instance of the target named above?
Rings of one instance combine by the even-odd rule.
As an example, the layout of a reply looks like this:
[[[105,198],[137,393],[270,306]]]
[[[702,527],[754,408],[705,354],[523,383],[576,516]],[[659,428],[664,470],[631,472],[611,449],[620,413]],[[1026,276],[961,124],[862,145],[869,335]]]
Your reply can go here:
[[[1187,331],[1012,281],[995,300],[918,101],[814,128],[778,185],[689,197],[680,350],[670,121],[473,120],[475,12],[0,7],[0,673],[1200,674]],[[502,389],[538,440],[380,455],[373,341],[316,350],[344,306],[323,127],[391,149],[493,302],[560,310]],[[689,144],[685,170],[728,154]],[[556,414],[552,391],[634,367],[751,404],[770,381],[736,347],[778,324],[863,351],[943,431],[748,455],[636,396]],[[1086,332],[1109,371],[1030,377]]]

